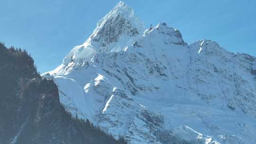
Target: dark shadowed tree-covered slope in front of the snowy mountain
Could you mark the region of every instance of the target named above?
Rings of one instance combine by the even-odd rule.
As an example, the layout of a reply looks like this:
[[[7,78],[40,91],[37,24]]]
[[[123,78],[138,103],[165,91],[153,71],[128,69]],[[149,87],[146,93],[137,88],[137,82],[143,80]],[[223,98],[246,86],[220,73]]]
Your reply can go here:
[[[127,144],[60,104],[54,81],[42,79],[25,50],[0,44],[0,144]]]

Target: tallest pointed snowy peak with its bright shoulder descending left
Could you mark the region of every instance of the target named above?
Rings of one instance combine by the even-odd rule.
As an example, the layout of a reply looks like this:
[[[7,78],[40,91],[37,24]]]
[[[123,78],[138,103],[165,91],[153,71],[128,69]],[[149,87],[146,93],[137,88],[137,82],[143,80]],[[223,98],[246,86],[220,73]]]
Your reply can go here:
[[[144,29],[144,24],[135,16],[134,10],[120,1],[97,23],[91,36],[65,56],[59,70],[64,72],[66,70],[63,67],[69,69],[74,64],[90,61],[93,55],[101,51],[109,53],[123,50],[141,36]]]

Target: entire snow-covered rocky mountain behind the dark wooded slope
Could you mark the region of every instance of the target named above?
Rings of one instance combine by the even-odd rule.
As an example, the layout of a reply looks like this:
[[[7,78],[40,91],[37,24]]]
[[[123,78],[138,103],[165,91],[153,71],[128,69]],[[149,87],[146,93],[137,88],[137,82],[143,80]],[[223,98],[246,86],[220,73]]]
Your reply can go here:
[[[187,45],[165,23],[142,29],[119,2],[44,74],[66,110],[131,144],[254,144],[256,58],[205,39]]]

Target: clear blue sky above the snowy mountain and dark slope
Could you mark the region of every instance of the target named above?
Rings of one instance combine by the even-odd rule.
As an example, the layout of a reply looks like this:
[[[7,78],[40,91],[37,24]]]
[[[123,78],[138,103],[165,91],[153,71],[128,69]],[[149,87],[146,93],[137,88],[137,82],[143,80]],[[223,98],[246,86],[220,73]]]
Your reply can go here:
[[[123,0],[145,23],[166,22],[191,44],[202,38],[232,52],[256,56],[256,0]],[[0,0],[0,41],[21,47],[47,72],[119,0]]]

